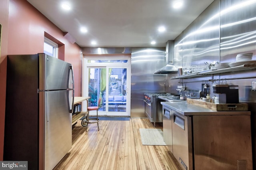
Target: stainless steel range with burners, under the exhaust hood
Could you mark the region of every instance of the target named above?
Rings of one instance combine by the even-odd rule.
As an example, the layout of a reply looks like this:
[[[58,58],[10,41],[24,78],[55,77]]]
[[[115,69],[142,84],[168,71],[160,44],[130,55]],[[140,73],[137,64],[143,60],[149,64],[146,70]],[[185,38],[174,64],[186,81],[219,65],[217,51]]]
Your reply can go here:
[[[145,114],[156,126],[156,122],[163,122],[161,101],[182,101],[180,96],[171,93],[144,93]]]

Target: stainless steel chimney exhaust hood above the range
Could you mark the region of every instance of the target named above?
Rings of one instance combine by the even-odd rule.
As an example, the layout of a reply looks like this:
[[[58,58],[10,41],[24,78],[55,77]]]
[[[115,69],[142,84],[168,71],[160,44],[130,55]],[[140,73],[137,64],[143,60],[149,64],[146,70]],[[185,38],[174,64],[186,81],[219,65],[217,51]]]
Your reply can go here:
[[[166,53],[165,53],[165,63],[166,65],[160,70],[155,71],[154,74],[168,74],[178,69],[173,65],[173,55],[174,55],[174,41],[168,40],[166,42]]]

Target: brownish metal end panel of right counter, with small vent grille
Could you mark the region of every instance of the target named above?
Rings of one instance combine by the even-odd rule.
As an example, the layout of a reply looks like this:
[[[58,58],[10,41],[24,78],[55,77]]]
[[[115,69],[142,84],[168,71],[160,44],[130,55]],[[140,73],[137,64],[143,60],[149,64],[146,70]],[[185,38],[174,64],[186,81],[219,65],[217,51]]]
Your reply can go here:
[[[193,131],[196,170],[252,170],[250,115],[193,116]]]

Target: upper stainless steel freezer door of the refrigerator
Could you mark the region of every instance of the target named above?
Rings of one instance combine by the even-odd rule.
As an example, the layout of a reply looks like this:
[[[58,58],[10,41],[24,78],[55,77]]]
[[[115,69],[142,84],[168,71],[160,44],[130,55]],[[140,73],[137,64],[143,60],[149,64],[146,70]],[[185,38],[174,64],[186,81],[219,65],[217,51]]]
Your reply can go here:
[[[44,53],[39,55],[39,90],[69,89],[70,63]],[[72,83],[74,83],[72,81]]]

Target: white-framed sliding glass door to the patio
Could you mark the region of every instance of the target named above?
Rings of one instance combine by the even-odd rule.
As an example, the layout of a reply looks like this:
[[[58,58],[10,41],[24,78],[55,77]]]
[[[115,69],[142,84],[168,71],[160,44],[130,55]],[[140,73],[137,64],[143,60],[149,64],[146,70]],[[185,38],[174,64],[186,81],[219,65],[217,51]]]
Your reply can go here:
[[[87,59],[86,61],[91,60]],[[112,60],[113,63],[105,63],[106,66],[102,64],[104,63],[102,60],[97,61],[101,62],[98,64],[87,63],[88,66],[84,71],[87,81],[83,87],[86,89],[86,96],[91,97],[88,105],[99,106],[98,115],[130,116],[130,93],[128,92],[130,67],[127,65],[127,61],[118,60],[122,61],[118,64]],[[90,115],[94,114],[96,112],[90,112]]]

